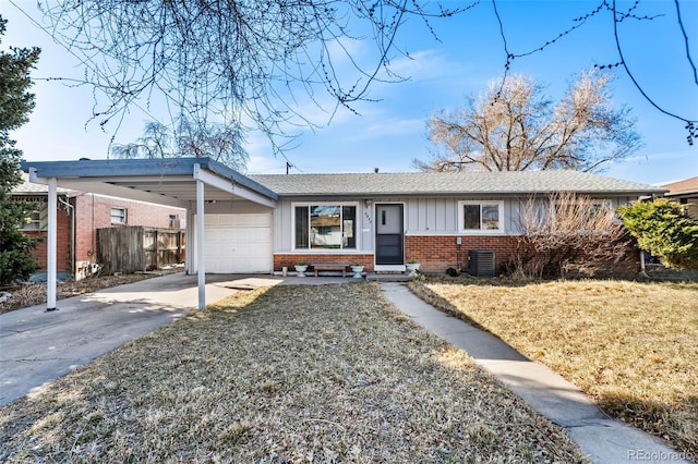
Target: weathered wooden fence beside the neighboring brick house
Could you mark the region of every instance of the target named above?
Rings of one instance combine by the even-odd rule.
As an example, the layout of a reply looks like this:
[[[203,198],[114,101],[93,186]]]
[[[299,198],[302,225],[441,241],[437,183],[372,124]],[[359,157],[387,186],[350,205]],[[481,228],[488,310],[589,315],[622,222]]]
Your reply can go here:
[[[133,273],[182,262],[184,231],[141,225],[97,229],[97,260],[104,273]]]

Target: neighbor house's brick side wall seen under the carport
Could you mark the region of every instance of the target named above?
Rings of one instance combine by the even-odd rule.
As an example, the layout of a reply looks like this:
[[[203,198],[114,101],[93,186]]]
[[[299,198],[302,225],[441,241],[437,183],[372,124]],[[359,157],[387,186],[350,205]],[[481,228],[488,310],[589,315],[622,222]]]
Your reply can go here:
[[[80,194],[71,199],[75,206],[75,267],[77,273],[94,258],[97,246],[97,229],[144,225],[149,228],[168,229],[170,215],[183,220],[186,211],[180,208],[133,202],[95,194]],[[127,210],[127,223],[111,223],[111,208]],[[76,276],[81,278],[83,276]]]

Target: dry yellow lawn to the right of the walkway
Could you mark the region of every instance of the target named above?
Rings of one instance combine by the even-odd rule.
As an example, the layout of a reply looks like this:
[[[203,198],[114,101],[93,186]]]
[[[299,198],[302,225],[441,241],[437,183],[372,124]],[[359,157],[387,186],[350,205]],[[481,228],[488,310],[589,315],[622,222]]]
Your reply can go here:
[[[698,283],[434,279],[411,289],[698,456]]]

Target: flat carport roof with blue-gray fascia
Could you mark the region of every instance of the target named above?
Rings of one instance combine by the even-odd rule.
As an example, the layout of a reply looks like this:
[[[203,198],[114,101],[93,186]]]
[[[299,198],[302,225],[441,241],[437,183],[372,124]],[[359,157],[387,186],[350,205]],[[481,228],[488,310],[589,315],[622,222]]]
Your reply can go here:
[[[274,207],[278,195],[209,158],[25,161],[34,182],[56,178],[61,187],[174,207],[196,202],[196,180],[206,200],[248,199]]]

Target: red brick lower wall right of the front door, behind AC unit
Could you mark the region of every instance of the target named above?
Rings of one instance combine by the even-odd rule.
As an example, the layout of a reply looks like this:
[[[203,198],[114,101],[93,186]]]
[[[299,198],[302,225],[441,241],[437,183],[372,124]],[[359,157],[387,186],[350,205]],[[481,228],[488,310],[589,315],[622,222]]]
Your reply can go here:
[[[468,269],[468,252],[471,249],[493,249],[495,266],[500,269],[516,251],[517,237],[510,235],[462,235],[461,245],[455,235],[407,235],[405,237],[406,258],[417,258],[420,270],[426,273],[444,273],[455,268],[460,252],[461,269]],[[460,247],[460,251],[458,251]]]

